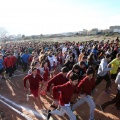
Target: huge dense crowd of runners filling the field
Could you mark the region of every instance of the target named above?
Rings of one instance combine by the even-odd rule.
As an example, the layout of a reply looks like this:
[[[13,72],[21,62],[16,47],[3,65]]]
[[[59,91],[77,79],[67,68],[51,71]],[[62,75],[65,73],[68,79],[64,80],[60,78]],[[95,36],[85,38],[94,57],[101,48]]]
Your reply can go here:
[[[84,42],[12,42],[0,46],[0,77],[3,80],[14,76],[17,69],[27,72],[23,78],[26,95],[37,100],[41,112],[44,101],[40,96],[52,96],[53,102],[47,110],[51,115],[68,115],[77,120],[74,111],[84,102],[90,107],[89,120],[94,120],[95,103],[91,94],[97,85],[106,81],[103,90],[110,94],[112,85],[118,84],[117,94],[112,100],[102,104],[104,111],[114,104],[120,110],[120,40]],[[28,84],[29,83],[29,84]],[[74,100],[72,97],[76,96]],[[76,102],[75,102],[76,101]],[[52,109],[51,109],[52,108]]]

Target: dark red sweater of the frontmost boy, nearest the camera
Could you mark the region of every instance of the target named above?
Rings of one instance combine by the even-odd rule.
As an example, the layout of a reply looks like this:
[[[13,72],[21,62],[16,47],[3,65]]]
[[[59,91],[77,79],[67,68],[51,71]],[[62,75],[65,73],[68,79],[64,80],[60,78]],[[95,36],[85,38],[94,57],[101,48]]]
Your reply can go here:
[[[60,93],[60,96],[59,96],[60,105],[64,106],[64,104],[69,104],[75,89],[76,89],[76,86],[72,85],[70,81],[63,85],[54,86],[53,98],[57,99],[58,93]]]

